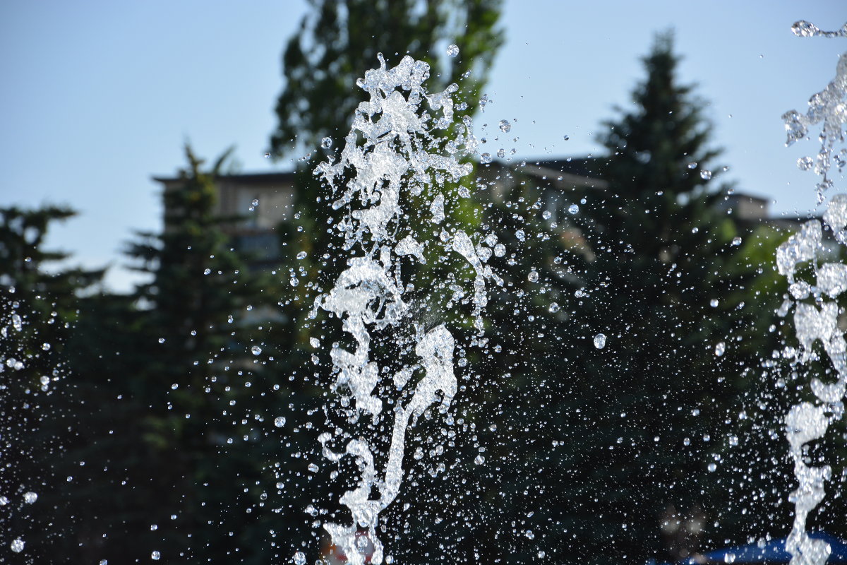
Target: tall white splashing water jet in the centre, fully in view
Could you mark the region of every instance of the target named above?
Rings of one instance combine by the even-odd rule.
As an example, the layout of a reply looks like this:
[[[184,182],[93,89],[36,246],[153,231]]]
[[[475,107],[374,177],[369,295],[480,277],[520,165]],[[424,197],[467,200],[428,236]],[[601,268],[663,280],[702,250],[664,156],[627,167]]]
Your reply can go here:
[[[421,301],[426,301],[412,298],[415,285],[402,273],[412,263],[448,261],[451,252],[461,256],[473,269],[473,280],[467,293],[461,280],[454,280],[459,284],[450,286],[452,303],[468,304],[468,325],[477,332],[484,328],[486,281],[501,284],[485,264],[491,252],[479,234],[440,226],[453,199],[446,194],[445,183],[473,171],[470,163],[457,158],[473,155],[477,141],[467,116],[454,119],[452,97],[458,86],[429,93],[424,86],[428,77],[429,64],[407,56],[388,68],[380,55],[379,68],[357,81],[369,99],[353,116],[339,161],[329,158],[314,171],[333,192],[332,208],[345,211],[335,229],[343,234],[342,249],[349,253],[346,269],[329,292],[316,298],[311,313],[315,317],[323,309],[340,319],[341,330],[355,343],[352,350],[335,343],[329,351],[335,376],[332,388],[349,395],[354,421],[360,414],[369,415],[376,429],[382,418],[393,418],[387,454],[377,452],[374,441],[352,438],[340,428],[318,438],[330,462],[352,456],[359,465],[357,487],[340,497],[352,513],[352,523],[324,523],[333,544],[353,565],[361,565],[367,557],[367,540],[357,535],[359,529],[367,529],[373,544],[371,562],[383,561],[376,528],[379,512],[400,491],[407,429],[433,404],[446,413],[457,394],[456,332],[446,323],[427,324],[418,316],[426,309]],[[425,198],[428,205],[412,209],[410,197]],[[429,227],[414,230],[410,217],[424,217]],[[429,238],[427,233],[438,237]],[[375,357],[385,357],[386,347],[399,354],[380,366]],[[342,440],[346,440],[344,451],[333,451],[330,444]],[[387,455],[381,474],[380,455]],[[379,497],[372,498],[374,488]]]

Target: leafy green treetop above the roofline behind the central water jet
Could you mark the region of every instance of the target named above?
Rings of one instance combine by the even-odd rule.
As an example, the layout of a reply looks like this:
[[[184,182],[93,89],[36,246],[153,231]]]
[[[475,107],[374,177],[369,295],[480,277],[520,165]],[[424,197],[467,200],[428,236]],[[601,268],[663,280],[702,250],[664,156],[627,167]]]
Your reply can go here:
[[[324,136],[336,140],[345,136],[361,102],[352,86],[376,64],[377,53],[393,64],[407,53],[429,63],[430,91],[462,79],[468,107],[458,114],[473,114],[502,43],[497,28],[500,0],[312,0],[311,4],[282,58],[285,87],[276,106],[279,125],[270,142],[274,155],[319,147]],[[446,55],[448,43],[459,47],[457,58]]]

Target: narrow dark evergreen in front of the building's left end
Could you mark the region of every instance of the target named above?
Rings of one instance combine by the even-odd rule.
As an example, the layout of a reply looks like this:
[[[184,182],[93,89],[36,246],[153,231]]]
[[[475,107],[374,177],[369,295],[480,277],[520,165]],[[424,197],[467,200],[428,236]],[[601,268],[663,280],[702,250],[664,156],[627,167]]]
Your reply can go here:
[[[161,499],[146,519],[176,515],[154,535],[158,547],[199,560],[241,544],[242,557],[259,551],[249,545],[257,513],[234,508],[252,505],[266,463],[253,448],[250,390],[270,388],[258,358],[262,320],[252,310],[263,284],[232,247],[239,219],[217,212],[215,182],[229,155],[206,169],[186,146],[187,167],[164,191],[163,233],[142,234],[128,250],[152,275],[137,293],[147,308],[137,338],[147,355],[139,375],[150,407],[143,439],[167,470],[155,478]]]

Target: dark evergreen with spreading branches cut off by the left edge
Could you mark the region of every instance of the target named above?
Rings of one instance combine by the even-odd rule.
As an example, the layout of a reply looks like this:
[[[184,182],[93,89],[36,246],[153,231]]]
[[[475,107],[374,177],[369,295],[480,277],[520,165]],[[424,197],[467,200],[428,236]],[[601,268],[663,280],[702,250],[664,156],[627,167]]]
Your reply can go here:
[[[0,208],[0,544],[24,541],[20,562],[49,561],[63,535],[67,483],[55,473],[73,440],[75,374],[67,344],[79,319],[80,293],[103,269],[57,269],[69,258],[44,240],[70,208]],[[8,551],[8,549],[7,549]]]

